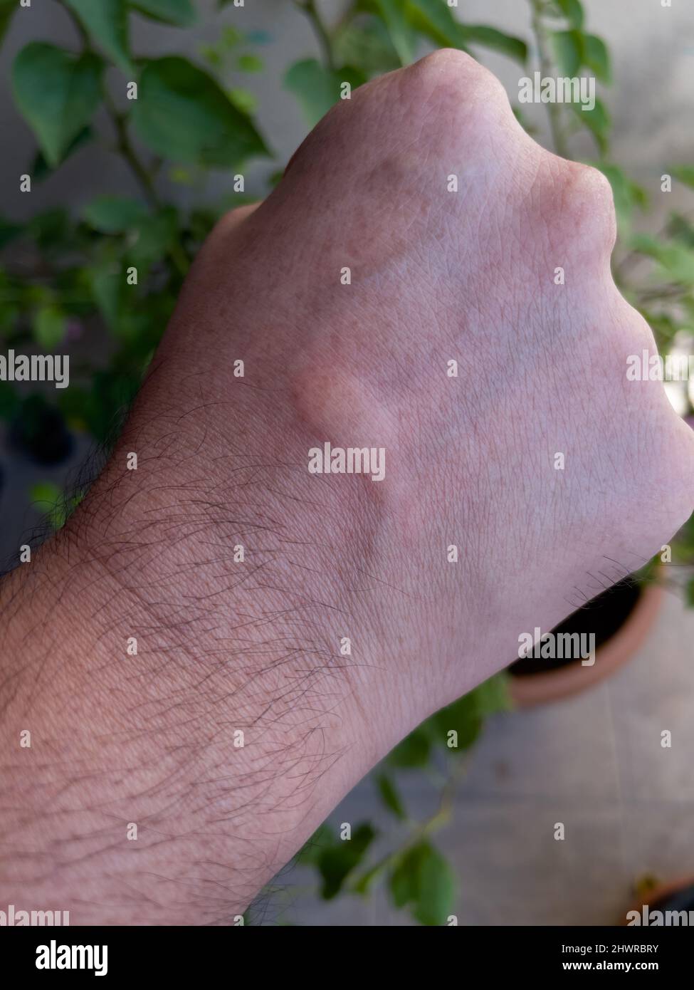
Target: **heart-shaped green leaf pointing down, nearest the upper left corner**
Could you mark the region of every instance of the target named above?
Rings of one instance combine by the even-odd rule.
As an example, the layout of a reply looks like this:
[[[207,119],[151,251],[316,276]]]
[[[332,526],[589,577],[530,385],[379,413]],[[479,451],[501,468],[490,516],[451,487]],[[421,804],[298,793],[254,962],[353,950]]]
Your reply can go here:
[[[44,42],[32,42],[15,58],[15,102],[52,167],[94,116],[101,101],[102,69],[94,54],[73,55]]]

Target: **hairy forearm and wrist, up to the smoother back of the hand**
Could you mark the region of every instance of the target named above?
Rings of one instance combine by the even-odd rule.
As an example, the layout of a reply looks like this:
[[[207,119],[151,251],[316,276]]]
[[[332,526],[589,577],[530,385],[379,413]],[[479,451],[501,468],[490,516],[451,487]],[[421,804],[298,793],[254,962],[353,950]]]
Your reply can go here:
[[[309,491],[292,441],[280,461],[240,410],[229,437],[208,425],[174,430],[146,394],[83,507],[3,586],[3,903],[229,922],[410,728],[392,697],[384,714],[354,507]]]

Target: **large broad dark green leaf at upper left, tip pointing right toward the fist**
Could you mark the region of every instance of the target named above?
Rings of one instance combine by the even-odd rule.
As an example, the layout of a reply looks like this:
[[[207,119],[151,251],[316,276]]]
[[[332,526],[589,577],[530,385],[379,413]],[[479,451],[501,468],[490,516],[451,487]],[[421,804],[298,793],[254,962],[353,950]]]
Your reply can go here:
[[[219,84],[177,55],[147,63],[133,123],[152,151],[172,161],[227,167],[269,153]]]

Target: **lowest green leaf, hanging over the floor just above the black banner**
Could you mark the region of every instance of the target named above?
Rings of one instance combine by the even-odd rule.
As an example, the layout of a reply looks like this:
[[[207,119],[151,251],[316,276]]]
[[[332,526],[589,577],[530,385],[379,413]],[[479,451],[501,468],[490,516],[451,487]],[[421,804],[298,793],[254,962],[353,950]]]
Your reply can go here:
[[[388,878],[396,908],[409,907],[422,925],[446,925],[454,878],[444,856],[430,842],[406,849]]]

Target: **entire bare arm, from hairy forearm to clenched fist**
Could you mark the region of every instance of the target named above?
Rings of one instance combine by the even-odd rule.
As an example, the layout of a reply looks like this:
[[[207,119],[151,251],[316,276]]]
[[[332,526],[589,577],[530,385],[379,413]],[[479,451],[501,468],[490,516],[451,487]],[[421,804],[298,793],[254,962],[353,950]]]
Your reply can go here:
[[[1,904],[229,923],[395,743],[667,542],[694,438],[627,381],[655,348],[614,236],[607,181],[450,50],[220,223],[106,469],[2,589]],[[385,478],[309,473],[325,442]]]

